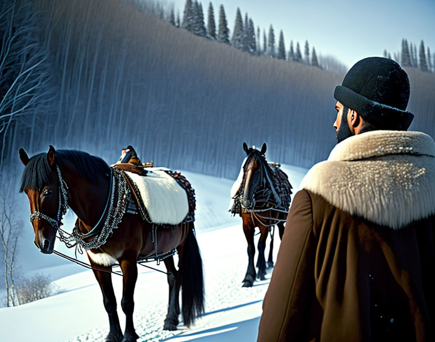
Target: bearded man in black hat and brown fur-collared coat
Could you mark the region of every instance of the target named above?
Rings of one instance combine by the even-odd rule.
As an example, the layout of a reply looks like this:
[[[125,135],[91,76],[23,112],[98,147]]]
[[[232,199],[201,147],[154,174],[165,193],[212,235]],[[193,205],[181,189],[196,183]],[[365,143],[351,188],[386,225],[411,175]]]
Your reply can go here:
[[[339,143],[293,199],[258,341],[435,341],[435,143],[406,131],[406,72],[363,59],[334,97]]]

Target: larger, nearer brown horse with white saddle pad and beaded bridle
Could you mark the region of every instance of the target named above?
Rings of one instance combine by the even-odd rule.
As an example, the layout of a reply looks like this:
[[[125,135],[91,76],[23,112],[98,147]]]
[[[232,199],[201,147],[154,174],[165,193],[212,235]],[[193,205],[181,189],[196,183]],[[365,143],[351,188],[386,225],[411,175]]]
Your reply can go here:
[[[180,287],[184,324],[189,326],[196,317],[201,316],[204,310],[202,262],[193,222],[182,222],[153,230],[152,223],[125,210],[125,193],[115,190],[115,195],[109,196],[113,192],[111,175],[119,175],[120,171],[109,168],[99,157],[80,151],[55,151],[51,145],[48,153],[29,158],[26,152],[20,149],[19,156],[25,165],[20,191],[24,191],[29,197],[31,221],[35,232],[34,243],[42,253],[53,252],[56,232],[61,232],[59,226],[68,206],[81,222],[77,234],[84,237],[84,241],[92,241],[90,232],[101,225],[100,218],[107,208],[109,213],[106,214],[106,221],[102,221],[118,220],[115,227],[117,229],[103,240],[100,247],[86,250],[100,284],[104,308],[109,316],[110,332],[106,341],[137,340],[133,324],[136,262],[138,258],[154,253],[165,254],[176,249],[179,258],[178,270],[172,256],[164,259],[169,284],[169,304],[164,329],[175,330],[179,323]],[[109,201],[109,198],[115,200]],[[120,205],[110,209],[112,202]],[[122,215],[119,215],[120,212]],[[154,239],[159,241],[157,250]],[[121,306],[126,315],[124,333],[119,325],[117,302],[109,273],[116,262],[123,274]]]

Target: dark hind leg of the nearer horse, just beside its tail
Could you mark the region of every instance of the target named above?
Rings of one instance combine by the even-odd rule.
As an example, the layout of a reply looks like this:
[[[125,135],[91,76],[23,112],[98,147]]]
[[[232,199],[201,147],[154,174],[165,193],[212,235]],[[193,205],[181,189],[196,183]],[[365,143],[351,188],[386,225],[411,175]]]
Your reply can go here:
[[[174,265],[172,256],[163,260],[167,270],[167,284],[169,285],[169,300],[167,305],[167,315],[163,330],[177,330],[178,315],[180,314],[180,281],[177,277],[178,271]]]

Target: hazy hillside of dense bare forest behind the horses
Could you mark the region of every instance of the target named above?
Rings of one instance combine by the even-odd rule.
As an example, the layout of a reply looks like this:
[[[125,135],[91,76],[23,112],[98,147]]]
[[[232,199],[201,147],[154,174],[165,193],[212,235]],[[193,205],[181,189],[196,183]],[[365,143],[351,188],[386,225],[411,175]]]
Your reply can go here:
[[[0,30],[15,49],[1,70],[2,165],[19,147],[48,144],[110,163],[131,144],[155,165],[235,178],[243,141],[267,142],[268,159],[302,167],[335,144],[343,74],[252,56],[125,1],[2,6]],[[409,77],[412,128],[433,135],[435,77],[415,68]]]

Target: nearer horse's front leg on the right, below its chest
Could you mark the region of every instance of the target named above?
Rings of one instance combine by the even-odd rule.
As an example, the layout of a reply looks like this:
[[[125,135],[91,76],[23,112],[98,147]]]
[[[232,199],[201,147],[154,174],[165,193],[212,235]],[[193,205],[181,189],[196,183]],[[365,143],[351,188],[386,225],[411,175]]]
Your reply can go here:
[[[133,311],[134,311],[134,287],[137,279],[137,256],[130,259],[123,259],[119,262],[122,270],[122,300],[121,307],[125,313],[125,330],[124,339],[122,342],[135,342],[137,336],[133,324]]]

